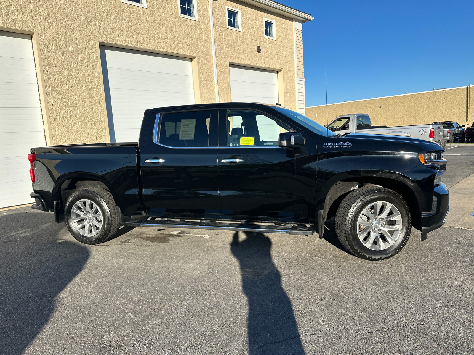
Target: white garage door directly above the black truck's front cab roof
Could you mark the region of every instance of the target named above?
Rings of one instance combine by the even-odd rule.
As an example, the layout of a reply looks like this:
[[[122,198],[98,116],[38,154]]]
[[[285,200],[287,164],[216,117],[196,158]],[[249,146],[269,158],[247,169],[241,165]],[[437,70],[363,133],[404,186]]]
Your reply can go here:
[[[230,65],[230,92],[233,102],[278,102],[276,71]]]

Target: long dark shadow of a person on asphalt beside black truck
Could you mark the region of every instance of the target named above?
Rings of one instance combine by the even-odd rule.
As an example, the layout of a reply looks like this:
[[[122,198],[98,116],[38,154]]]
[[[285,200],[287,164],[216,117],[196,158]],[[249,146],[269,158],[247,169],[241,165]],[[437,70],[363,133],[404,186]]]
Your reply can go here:
[[[249,355],[304,355],[292,302],[283,290],[281,275],[273,264],[272,242],[259,232],[235,232],[230,244],[240,263],[242,289],[248,301]]]

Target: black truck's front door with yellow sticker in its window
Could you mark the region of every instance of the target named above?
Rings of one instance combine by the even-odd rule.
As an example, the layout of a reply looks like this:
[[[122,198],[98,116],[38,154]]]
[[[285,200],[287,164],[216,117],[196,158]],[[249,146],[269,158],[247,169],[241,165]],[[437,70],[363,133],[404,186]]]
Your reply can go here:
[[[293,151],[278,146],[290,128],[253,109],[219,110],[219,196],[229,218],[309,218],[310,206],[296,178]],[[314,196],[312,187],[309,197]]]

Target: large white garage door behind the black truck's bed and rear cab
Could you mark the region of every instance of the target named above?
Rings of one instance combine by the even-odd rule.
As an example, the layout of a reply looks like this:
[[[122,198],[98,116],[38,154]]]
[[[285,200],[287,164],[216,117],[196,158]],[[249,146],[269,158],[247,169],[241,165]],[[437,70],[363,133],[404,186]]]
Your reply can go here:
[[[191,59],[100,46],[111,142],[137,142],[148,108],[194,104]]]

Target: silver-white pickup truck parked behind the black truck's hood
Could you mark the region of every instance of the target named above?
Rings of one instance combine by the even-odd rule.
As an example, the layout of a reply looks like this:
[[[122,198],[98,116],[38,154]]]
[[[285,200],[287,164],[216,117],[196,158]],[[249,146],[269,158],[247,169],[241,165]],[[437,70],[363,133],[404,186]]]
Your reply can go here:
[[[394,134],[426,139],[427,141],[437,142],[443,147],[446,145],[446,141],[443,141],[442,124],[417,124],[396,127],[373,126],[369,115],[350,114],[337,116],[328,124],[327,128],[339,134],[352,132]]]

